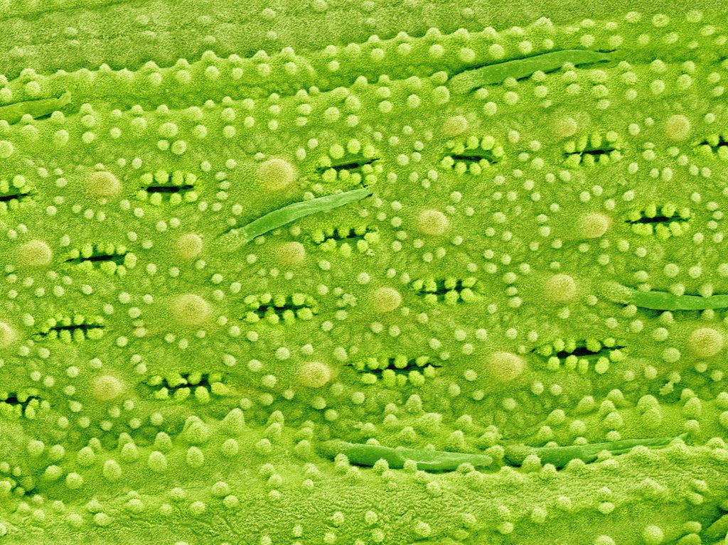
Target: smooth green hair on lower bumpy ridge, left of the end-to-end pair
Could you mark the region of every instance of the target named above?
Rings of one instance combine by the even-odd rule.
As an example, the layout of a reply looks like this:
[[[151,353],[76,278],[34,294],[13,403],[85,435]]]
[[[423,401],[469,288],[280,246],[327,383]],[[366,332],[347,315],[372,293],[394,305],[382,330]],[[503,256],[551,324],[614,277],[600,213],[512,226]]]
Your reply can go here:
[[[443,450],[422,450],[416,448],[392,448],[381,445],[365,445],[344,441],[327,441],[322,445],[328,456],[344,454],[350,464],[373,466],[379,460],[387,461],[392,469],[404,467],[405,461],[411,460],[417,469],[430,471],[453,471],[460,464],[472,464],[475,467],[488,467],[493,458],[487,454],[451,453]]]

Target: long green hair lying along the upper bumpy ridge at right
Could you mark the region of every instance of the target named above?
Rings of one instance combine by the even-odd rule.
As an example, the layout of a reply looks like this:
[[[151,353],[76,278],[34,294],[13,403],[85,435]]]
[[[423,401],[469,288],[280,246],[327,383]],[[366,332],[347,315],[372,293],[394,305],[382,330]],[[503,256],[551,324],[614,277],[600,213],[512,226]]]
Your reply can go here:
[[[605,60],[612,60],[612,54],[590,49],[563,49],[535,57],[472,68],[454,76],[450,80],[450,88],[456,94],[462,95],[475,87],[502,83],[507,78],[522,79],[536,71],[553,72],[566,63],[577,66]]]

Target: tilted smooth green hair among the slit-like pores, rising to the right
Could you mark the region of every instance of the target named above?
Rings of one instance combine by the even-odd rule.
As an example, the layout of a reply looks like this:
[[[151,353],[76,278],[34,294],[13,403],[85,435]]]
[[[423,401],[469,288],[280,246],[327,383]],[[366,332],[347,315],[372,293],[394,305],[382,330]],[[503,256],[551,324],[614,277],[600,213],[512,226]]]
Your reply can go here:
[[[309,201],[294,202],[288,206],[273,210],[260,218],[251,221],[248,225],[233,229],[224,235],[225,241],[228,243],[228,250],[234,251],[247,244],[256,236],[266,234],[268,231],[285,226],[307,215],[316,214],[317,212],[328,212],[334,208],[360,201],[371,195],[371,191],[367,188],[354,189],[352,191],[344,191],[333,195],[326,195]]]

